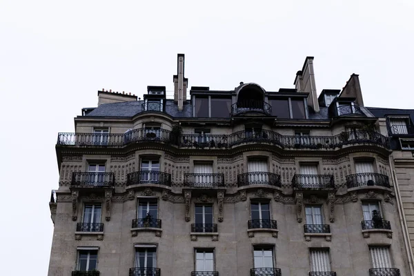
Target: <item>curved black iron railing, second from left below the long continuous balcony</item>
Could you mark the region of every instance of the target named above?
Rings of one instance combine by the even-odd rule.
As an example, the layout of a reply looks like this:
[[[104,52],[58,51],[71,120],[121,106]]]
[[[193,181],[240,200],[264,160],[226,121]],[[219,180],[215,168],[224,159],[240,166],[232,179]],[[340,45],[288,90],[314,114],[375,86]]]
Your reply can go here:
[[[126,175],[126,185],[135,184],[159,184],[171,186],[171,175],[166,172],[157,170],[140,170],[138,172],[130,172]]]

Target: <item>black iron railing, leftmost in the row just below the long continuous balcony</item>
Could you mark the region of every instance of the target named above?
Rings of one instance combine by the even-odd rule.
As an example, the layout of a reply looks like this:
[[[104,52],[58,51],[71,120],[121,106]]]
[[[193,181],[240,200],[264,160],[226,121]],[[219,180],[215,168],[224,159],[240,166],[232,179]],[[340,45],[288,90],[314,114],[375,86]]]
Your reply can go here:
[[[114,186],[115,176],[113,172],[73,172],[72,186]]]

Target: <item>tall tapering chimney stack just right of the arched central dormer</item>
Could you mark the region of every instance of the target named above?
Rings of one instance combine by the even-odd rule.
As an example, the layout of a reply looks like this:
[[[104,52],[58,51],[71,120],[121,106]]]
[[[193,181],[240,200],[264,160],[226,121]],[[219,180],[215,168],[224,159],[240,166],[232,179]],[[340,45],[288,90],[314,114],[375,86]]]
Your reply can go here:
[[[308,106],[312,106],[315,112],[319,112],[317,100],[315,72],[313,71],[313,57],[306,57],[302,70],[297,71],[295,77],[295,88],[297,92],[306,92],[308,95]]]

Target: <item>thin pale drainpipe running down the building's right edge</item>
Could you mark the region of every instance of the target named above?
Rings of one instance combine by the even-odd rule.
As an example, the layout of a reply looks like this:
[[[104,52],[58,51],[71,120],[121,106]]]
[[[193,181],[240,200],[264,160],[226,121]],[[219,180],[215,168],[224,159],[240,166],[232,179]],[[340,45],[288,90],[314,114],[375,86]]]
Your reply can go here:
[[[388,161],[393,164],[392,168],[394,168],[394,162],[391,159],[391,155],[388,156]],[[408,227],[405,219],[404,208],[402,206],[402,199],[400,194],[400,186],[398,186],[397,176],[395,174],[395,170],[392,169],[392,179],[393,179],[393,186],[395,191],[395,199],[397,200],[398,206],[398,215],[400,217],[400,223],[402,226],[402,237],[404,238],[404,247],[406,249],[406,254],[408,257],[408,266],[410,267],[410,275],[414,276],[414,269],[413,269],[413,248],[410,244],[410,235],[408,234]]]

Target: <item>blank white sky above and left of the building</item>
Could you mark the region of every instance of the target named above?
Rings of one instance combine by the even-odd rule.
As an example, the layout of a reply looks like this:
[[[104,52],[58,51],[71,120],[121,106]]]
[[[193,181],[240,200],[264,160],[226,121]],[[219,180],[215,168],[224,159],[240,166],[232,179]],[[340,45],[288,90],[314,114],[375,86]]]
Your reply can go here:
[[[293,88],[314,56],[318,93],[355,72],[365,106],[414,108],[413,14],[412,0],[0,0],[0,275],[47,275],[57,132],[97,90],[172,90],[177,53],[190,86]]]

